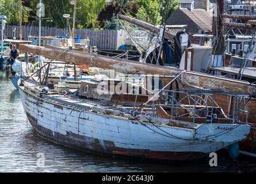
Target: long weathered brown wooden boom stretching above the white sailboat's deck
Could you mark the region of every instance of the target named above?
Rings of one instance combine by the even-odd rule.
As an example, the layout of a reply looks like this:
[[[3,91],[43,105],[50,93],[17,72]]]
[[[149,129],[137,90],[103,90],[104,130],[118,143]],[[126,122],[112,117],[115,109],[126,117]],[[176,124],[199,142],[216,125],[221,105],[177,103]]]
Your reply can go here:
[[[182,70],[174,67],[156,66],[155,64],[133,62],[108,56],[91,53],[71,51],[52,46],[38,47],[35,45],[20,45],[20,50],[42,55],[48,59],[60,60],[66,63],[82,64],[90,67],[104,68],[123,72],[125,74],[149,74],[149,75],[177,75]],[[209,90],[224,90],[234,93],[254,94],[256,85],[221,76],[185,71],[181,75],[181,82]]]

